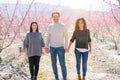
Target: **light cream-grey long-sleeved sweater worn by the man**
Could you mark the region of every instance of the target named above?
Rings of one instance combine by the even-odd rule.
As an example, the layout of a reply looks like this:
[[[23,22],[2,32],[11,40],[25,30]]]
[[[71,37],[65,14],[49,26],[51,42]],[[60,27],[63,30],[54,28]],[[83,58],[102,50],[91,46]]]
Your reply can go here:
[[[68,46],[68,34],[64,25],[51,24],[47,30],[46,48],[49,47],[64,47]]]

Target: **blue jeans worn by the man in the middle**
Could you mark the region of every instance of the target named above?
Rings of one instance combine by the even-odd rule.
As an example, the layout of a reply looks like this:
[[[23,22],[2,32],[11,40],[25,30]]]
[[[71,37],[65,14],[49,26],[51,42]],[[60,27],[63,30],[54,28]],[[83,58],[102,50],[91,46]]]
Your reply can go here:
[[[52,68],[55,75],[55,79],[59,80],[58,69],[57,69],[57,55],[58,55],[60,66],[62,69],[63,80],[66,80],[67,70],[65,65],[64,47],[50,47],[50,53],[51,53]]]

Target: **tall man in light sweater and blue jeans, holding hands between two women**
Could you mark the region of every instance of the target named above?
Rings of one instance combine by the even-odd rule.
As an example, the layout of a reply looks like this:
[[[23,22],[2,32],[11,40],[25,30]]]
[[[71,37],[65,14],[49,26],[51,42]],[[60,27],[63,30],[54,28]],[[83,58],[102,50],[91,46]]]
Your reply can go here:
[[[65,26],[59,23],[60,13],[53,12],[53,24],[49,25],[47,30],[47,38],[45,51],[51,54],[52,68],[55,80],[59,80],[57,69],[57,55],[62,69],[63,80],[67,79],[67,69],[65,65],[65,52],[68,46],[68,34]],[[50,49],[50,50],[49,50]]]

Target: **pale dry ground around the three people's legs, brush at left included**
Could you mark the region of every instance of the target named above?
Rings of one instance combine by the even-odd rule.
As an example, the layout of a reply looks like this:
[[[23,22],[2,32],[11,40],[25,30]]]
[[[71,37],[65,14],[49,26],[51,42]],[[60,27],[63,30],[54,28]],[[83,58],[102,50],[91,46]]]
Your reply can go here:
[[[94,44],[92,44],[92,46],[92,54],[89,54],[88,60],[87,80],[120,80],[120,56],[116,55],[117,57],[114,57],[114,51],[112,53],[111,51],[106,50],[105,45],[97,43],[96,40],[94,41]],[[15,50],[17,50],[15,48],[16,46],[13,46],[13,48],[6,50],[7,52],[4,52],[5,54],[3,53],[3,56],[5,55],[7,57],[6,53],[10,51],[8,57],[13,57],[12,54],[15,53]],[[77,80],[75,67],[76,62],[73,51],[73,48],[71,48],[70,53],[66,53],[68,80]],[[5,58],[7,62],[9,61],[9,58]],[[5,72],[3,74],[8,74],[4,75],[4,77],[12,76],[11,78],[6,80],[28,80],[26,79],[29,77],[28,63],[25,63],[23,55],[17,57],[10,63],[11,65],[4,65],[5,68],[3,70],[0,70],[0,80],[4,80],[1,77],[1,74],[3,72]],[[59,62],[57,64],[59,70],[59,77],[60,80],[62,80]],[[38,80],[53,79],[54,75],[51,67],[50,54],[44,54],[40,61]]]

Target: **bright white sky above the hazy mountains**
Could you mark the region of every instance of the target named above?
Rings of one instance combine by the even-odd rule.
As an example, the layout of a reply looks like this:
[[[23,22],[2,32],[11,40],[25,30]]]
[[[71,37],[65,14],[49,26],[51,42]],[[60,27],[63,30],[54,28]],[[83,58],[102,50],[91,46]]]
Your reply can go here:
[[[16,3],[17,0],[0,0],[0,3]],[[19,0],[20,3],[30,3],[32,0]],[[106,0],[109,1],[109,0]],[[109,11],[110,6],[103,0],[35,0],[36,2],[52,4],[52,5],[63,5],[73,9],[84,9],[94,11]],[[118,4],[116,0],[111,0],[112,3]]]

